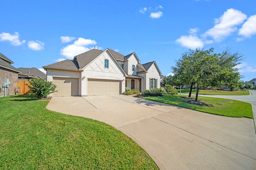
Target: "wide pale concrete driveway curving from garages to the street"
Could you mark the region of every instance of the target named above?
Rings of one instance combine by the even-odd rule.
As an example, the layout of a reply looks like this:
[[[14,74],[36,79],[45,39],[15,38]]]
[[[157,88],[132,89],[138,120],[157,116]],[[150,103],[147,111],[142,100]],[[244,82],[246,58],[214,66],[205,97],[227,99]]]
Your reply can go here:
[[[114,126],[146,150],[161,170],[256,169],[253,119],[124,95],[52,98],[46,108]]]

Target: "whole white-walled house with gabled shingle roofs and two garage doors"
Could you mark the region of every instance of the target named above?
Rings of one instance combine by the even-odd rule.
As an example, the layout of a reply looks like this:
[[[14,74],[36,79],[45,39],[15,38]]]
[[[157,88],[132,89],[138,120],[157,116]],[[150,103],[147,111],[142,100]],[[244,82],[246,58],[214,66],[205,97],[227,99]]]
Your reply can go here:
[[[53,97],[122,94],[125,87],[141,92],[160,88],[156,62],[141,64],[136,53],[124,56],[111,49],[92,49],[43,68],[47,81],[57,86]]]

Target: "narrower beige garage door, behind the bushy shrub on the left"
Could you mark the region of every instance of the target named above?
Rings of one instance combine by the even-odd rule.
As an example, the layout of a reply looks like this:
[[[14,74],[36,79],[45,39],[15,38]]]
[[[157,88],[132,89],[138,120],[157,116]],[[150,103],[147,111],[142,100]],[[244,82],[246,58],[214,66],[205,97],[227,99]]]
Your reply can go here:
[[[78,78],[54,77],[52,82],[57,86],[53,97],[78,96]]]

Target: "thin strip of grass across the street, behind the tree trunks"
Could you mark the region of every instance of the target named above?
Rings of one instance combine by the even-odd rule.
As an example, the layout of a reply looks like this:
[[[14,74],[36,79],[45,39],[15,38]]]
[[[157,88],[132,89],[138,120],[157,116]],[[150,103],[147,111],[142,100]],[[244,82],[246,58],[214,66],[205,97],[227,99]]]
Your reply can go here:
[[[188,93],[189,89],[182,89],[181,93]],[[177,92],[180,93],[180,89],[177,89]],[[192,94],[196,94],[196,90],[192,90]],[[199,90],[198,94],[208,94],[208,95],[249,95],[249,90],[245,92],[242,90],[230,92],[230,91],[222,91],[222,90]]]

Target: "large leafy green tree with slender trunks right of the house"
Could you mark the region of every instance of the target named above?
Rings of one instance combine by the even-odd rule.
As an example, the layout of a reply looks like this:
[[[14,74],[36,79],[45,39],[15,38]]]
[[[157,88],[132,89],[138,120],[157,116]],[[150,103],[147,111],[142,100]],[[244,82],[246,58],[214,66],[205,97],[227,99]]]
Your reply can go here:
[[[199,87],[216,86],[238,86],[240,76],[237,67],[243,55],[232,54],[229,49],[216,54],[213,48],[204,50],[197,48],[182,54],[176,61],[176,65],[171,69],[176,82],[180,84],[190,84],[190,94],[192,86],[196,85],[196,101],[198,99]]]

